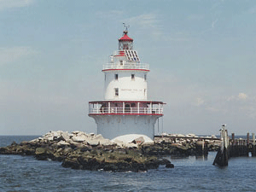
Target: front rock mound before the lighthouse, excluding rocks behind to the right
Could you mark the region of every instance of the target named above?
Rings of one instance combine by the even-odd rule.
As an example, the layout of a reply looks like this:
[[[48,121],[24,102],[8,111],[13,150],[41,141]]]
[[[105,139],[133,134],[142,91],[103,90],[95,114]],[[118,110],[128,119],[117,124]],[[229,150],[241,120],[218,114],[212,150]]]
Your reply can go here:
[[[0,154],[34,155],[37,160],[58,160],[64,167],[84,170],[144,172],[160,164],[171,167],[169,160],[143,154],[136,142],[113,143],[102,135],[82,131],[49,131],[30,142],[0,148]]]

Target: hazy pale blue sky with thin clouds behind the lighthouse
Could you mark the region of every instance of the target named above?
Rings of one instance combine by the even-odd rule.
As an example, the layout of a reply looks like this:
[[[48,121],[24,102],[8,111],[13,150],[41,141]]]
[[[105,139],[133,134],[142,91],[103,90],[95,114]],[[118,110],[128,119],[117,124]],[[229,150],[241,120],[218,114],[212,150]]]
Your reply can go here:
[[[0,135],[96,132],[123,23],[166,133],[256,133],[256,1],[0,0]]]

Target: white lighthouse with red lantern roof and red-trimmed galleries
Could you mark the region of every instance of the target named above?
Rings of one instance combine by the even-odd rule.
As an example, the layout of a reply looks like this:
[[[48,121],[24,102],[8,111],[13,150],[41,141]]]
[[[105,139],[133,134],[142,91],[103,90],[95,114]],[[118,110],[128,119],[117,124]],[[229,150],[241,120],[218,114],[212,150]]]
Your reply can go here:
[[[89,102],[89,116],[96,120],[97,134],[113,139],[141,134],[154,140],[154,124],[163,116],[163,102],[147,98],[148,64],[141,63],[133,39],[119,38],[119,50],[103,65],[104,100]]]

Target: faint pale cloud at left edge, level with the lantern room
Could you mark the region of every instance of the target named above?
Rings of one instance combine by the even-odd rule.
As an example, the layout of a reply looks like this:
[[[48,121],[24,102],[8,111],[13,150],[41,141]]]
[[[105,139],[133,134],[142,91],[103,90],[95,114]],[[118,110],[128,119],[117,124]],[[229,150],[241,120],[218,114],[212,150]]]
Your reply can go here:
[[[35,53],[30,47],[0,48],[0,66]]]

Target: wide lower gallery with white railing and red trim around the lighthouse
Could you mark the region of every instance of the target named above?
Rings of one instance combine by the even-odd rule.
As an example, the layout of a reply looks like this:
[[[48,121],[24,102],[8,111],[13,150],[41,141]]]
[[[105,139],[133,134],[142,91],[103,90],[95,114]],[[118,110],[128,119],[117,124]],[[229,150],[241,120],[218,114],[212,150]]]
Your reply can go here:
[[[90,102],[89,114],[163,115],[163,102]]]

